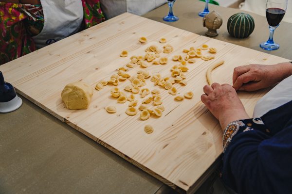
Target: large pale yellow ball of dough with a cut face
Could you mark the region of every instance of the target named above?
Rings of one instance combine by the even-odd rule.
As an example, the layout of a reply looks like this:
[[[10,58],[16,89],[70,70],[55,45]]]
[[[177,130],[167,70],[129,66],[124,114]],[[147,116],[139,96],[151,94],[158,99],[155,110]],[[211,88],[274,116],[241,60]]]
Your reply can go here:
[[[87,109],[92,95],[91,86],[82,81],[67,84],[61,93],[67,109]]]

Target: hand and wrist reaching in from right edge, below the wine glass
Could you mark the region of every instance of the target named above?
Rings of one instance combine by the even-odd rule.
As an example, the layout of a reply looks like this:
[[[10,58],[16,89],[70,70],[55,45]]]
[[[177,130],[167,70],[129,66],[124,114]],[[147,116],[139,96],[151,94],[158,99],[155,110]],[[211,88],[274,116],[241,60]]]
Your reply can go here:
[[[267,88],[292,75],[292,64],[244,65],[233,72],[233,87],[241,91],[255,91]]]

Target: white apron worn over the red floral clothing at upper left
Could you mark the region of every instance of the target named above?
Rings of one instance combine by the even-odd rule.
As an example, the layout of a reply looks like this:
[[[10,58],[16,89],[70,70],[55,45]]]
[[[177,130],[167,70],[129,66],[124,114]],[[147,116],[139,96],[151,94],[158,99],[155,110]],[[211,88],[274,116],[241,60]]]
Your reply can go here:
[[[33,36],[37,49],[66,38],[80,29],[83,20],[81,0],[40,0],[44,27]]]

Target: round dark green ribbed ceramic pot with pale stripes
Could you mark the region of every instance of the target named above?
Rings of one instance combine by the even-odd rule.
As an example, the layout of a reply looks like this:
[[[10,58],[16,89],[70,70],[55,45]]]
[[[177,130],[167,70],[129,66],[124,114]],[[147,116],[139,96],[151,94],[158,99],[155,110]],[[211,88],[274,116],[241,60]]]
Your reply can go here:
[[[245,13],[237,13],[229,17],[227,30],[229,34],[236,38],[246,38],[255,29],[255,20],[252,16]]]

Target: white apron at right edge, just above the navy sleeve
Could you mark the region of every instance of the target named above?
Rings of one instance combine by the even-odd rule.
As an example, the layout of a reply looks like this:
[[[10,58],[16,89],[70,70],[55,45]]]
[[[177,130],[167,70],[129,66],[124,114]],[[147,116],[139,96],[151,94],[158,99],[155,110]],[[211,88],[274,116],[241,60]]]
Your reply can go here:
[[[292,76],[276,85],[256,103],[253,117],[261,117],[270,110],[278,108],[292,100]]]

